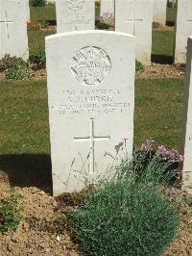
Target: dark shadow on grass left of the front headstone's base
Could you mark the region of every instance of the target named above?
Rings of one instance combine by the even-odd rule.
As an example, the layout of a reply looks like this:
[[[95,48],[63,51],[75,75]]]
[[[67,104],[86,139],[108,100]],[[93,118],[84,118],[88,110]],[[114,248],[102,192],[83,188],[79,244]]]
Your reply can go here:
[[[0,155],[0,170],[7,173],[12,187],[36,187],[52,194],[50,155]]]

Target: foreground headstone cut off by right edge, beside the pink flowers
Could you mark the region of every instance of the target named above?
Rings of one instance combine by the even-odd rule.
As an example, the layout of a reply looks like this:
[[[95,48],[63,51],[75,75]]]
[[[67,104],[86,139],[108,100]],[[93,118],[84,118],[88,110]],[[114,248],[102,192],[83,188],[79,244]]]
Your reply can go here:
[[[181,151],[184,153],[182,189],[192,192],[192,37],[188,38]]]

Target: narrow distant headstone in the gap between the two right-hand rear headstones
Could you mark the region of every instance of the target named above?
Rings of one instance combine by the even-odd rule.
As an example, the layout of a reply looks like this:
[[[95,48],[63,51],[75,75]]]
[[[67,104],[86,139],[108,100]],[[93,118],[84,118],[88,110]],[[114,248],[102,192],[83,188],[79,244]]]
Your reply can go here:
[[[154,0],[154,21],[165,26],[167,0]]]

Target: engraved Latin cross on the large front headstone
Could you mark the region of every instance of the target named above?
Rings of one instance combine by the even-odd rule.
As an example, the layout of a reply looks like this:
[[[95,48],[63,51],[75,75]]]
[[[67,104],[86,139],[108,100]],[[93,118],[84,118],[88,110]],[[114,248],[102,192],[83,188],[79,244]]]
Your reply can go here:
[[[89,119],[89,136],[88,137],[74,137],[75,142],[86,142],[89,141],[89,174],[94,173],[95,166],[95,154],[94,154],[94,144],[95,141],[108,141],[109,136],[97,137],[94,135],[94,118]]]

